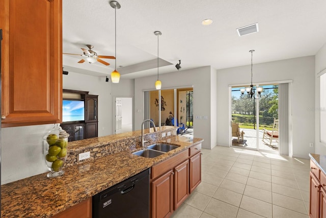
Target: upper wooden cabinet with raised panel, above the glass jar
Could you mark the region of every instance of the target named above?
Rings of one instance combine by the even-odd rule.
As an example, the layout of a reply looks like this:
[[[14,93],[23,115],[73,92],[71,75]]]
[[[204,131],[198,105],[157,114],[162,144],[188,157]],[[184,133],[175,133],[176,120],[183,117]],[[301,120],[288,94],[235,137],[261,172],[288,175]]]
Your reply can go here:
[[[2,127],[62,122],[62,0],[2,0]]]

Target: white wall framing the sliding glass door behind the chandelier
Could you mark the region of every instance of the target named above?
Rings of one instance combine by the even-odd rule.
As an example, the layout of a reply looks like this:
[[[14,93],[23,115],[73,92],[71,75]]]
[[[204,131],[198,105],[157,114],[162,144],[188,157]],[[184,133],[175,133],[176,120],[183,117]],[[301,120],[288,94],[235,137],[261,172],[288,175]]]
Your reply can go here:
[[[254,64],[253,82],[293,80],[292,83],[292,133],[293,156],[308,158],[314,148],[315,105],[314,56]],[[229,146],[229,84],[250,84],[250,65],[218,70],[217,136],[218,144]]]

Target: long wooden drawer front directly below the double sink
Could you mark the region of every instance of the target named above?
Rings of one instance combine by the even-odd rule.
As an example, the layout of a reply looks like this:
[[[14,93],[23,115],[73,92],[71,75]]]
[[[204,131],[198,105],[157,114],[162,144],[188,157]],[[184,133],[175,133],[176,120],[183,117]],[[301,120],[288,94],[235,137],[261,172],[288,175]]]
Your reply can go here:
[[[185,150],[169,159],[162,161],[154,166],[151,169],[151,179],[155,179],[156,177],[166,173],[169,171],[173,166],[183,162],[184,160],[188,159],[188,150]]]

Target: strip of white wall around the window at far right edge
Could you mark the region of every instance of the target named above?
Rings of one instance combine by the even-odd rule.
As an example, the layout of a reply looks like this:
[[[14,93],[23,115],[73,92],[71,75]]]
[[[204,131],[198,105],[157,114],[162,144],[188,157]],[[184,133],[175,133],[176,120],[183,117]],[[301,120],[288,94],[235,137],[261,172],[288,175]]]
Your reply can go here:
[[[326,144],[320,142],[320,79],[317,74],[326,68],[326,44],[315,56],[315,151],[316,154],[326,154]]]

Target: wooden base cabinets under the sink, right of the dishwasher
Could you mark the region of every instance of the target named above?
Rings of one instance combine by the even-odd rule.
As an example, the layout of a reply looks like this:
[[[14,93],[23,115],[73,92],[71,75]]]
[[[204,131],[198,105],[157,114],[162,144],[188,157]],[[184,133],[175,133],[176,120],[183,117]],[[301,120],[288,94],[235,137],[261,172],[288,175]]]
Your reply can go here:
[[[151,217],[170,217],[201,182],[201,143],[151,168]]]

